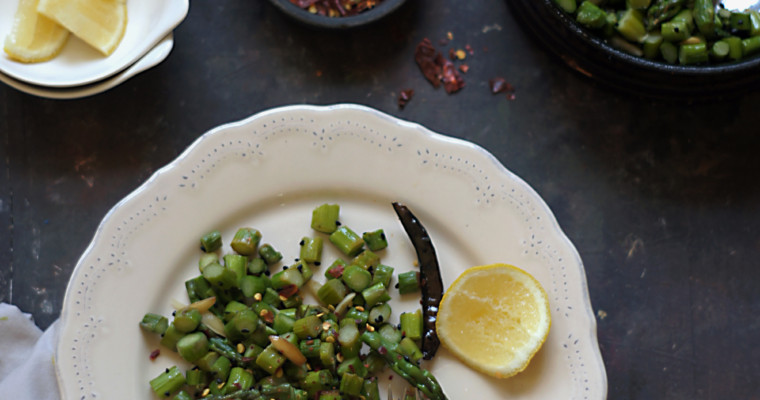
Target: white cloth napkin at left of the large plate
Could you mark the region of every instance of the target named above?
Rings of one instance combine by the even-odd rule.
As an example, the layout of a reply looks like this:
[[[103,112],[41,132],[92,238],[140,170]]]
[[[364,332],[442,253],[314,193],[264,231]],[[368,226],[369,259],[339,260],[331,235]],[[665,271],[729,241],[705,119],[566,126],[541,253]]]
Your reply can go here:
[[[58,400],[53,356],[58,321],[42,332],[29,314],[0,303],[0,400]]]

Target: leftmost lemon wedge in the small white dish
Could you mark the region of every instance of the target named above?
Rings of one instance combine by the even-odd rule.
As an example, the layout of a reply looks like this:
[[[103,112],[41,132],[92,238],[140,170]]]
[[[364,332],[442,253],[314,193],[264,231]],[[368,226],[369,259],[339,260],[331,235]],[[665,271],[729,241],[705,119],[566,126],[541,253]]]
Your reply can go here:
[[[37,13],[38,0],[21,0],[5,38],[5,52],[16,61],[32,63],[55,57],[66,44],[69,31]]]

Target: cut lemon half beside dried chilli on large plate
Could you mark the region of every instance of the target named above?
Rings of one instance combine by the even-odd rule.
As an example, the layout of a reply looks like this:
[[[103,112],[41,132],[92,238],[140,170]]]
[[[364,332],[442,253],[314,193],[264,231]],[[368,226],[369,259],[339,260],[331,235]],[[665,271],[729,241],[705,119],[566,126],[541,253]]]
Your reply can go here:
[[[528,366],[551,326],[549,299],[527,272],[507,264],[473,267],[441,300],[441,344],[465,364],[497,378]]]

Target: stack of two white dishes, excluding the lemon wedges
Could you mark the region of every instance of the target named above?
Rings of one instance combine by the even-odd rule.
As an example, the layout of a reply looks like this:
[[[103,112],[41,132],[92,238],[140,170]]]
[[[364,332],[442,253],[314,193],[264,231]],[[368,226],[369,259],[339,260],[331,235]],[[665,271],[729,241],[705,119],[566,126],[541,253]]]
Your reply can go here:
[[[18,1],[0,1],[0,43],[10,33]],[[161,61],[174,46],[173,30],[185,19],[188,0],[127,0],[127,29],[108,57],[75,36],[50,61],[25,64],[0,55],[0,81],[54,99],[92,96],[115,87]]]

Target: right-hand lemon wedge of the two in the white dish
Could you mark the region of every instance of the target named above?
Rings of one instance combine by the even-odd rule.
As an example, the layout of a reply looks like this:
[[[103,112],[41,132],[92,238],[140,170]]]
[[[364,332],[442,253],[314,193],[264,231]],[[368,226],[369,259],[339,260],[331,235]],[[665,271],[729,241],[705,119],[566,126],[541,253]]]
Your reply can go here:
[[[40,0],[37,11],[106,56],[127,28],[126,0]]]

